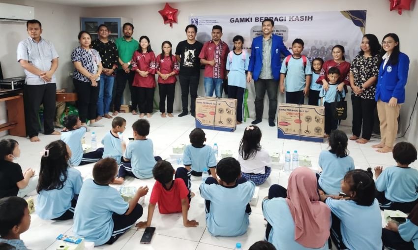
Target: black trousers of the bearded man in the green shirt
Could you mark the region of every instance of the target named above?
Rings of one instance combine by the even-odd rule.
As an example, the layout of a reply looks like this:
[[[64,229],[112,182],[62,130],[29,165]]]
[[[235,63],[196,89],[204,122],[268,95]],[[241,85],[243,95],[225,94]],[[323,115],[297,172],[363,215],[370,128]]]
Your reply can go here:
[[[138,97],[133,91],[132,83],[134,81],[135,71],[126,73],[123,69],[118,69],[116,73],[116,94],[115,94],[115,111],[120,110],[120,102],[122,100],[123,91],[125,90],[126,81],[128,81],[129,90],[131,91],[132,110],[136,110],[138,106]]]

